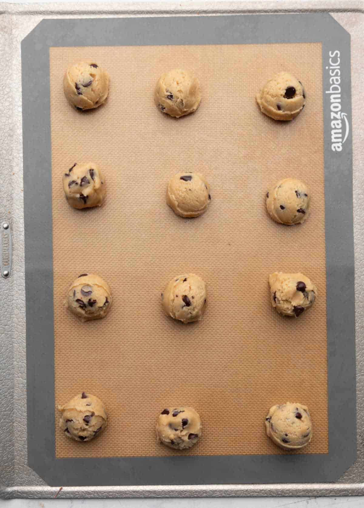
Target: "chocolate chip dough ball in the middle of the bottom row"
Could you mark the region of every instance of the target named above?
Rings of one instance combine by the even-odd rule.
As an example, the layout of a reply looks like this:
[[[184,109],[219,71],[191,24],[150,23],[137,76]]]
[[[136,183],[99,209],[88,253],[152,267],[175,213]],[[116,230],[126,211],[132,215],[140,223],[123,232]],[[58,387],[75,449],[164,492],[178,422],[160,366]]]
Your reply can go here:
[[[197,443],[201,429],[201,419],[193,407],[168,407],[158,418],[157,441],[175,450],[184,450]]]

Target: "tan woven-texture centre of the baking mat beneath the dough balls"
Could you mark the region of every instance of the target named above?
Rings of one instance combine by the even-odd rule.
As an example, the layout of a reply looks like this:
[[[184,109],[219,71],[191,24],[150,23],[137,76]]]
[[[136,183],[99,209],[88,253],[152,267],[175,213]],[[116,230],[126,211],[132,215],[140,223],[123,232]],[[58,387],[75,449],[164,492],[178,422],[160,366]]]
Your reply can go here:
[[[81,113],[63,94],[66,68],[96,61],[110,73],[105,105]],[[159,75],[192,68],[199,110],[179,120],[154,105]],[[260,113],[257,89],[288,70],[307,105],[291,122]],[[189,404],[203,435],[191,455],[276,454],[264,417],[276,403],[310,408],[314,435],[304,453],[327,453],[324,173],[320,44],[51,48],[51,135],[55,400],[82,390],[108,409],[104,433],[80,443],[58,428],[56,457],[164,456],[155,422]],[[101,208],[68,206],[62,174],[93,161],[107,180]],[[169,178],[200,171],[211,185],[195,219],[166,205]],[[267,187],[293,176],[312,188],[302,226],[274,223]],[[302,271],[318,287],[297,320],[271,307],[268,275]],[[108,316],[83,323],[64,307],[69,284],[96,272],[110,284]],[[184,272],[207,284],[199,323],[165,316],[160,295]],[[51,338],[50,338],[51,339]]]

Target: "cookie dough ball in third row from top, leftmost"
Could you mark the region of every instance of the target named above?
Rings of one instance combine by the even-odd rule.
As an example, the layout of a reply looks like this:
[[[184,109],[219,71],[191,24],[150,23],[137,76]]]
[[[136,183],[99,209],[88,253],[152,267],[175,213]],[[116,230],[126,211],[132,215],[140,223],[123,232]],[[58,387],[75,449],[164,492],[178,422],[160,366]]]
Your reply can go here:
[[[105,317],[111,302],[110,288],[105,280],[95,273],[82,273],[68,290],[66,306],[83,321],[89,321]]]

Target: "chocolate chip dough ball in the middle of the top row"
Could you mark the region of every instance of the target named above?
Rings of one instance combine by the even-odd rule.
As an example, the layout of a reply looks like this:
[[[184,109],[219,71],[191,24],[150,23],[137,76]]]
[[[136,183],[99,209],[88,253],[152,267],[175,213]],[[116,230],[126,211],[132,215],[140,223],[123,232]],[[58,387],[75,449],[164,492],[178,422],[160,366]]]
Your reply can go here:
[[[157,81],[154,102],[163,113],[179,118],[196,111],[200,101],[200,83],[192,71],[173,69]]]

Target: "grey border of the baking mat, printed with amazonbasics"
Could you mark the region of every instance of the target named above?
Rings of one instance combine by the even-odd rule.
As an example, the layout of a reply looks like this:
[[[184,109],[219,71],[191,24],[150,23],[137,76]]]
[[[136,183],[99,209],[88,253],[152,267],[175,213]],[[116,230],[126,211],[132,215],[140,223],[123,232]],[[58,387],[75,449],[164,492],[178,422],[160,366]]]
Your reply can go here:
[[[298,42],[322,43],[328,454],[56,459],[49,48]],[[350,127],[341,152],[331,150],[331,94],[325,93],[335,50]],[[350,35],[329,14],[47,19],[22,41],[21,57],[28,465],[51,486],[337,480],[356,458]]]

